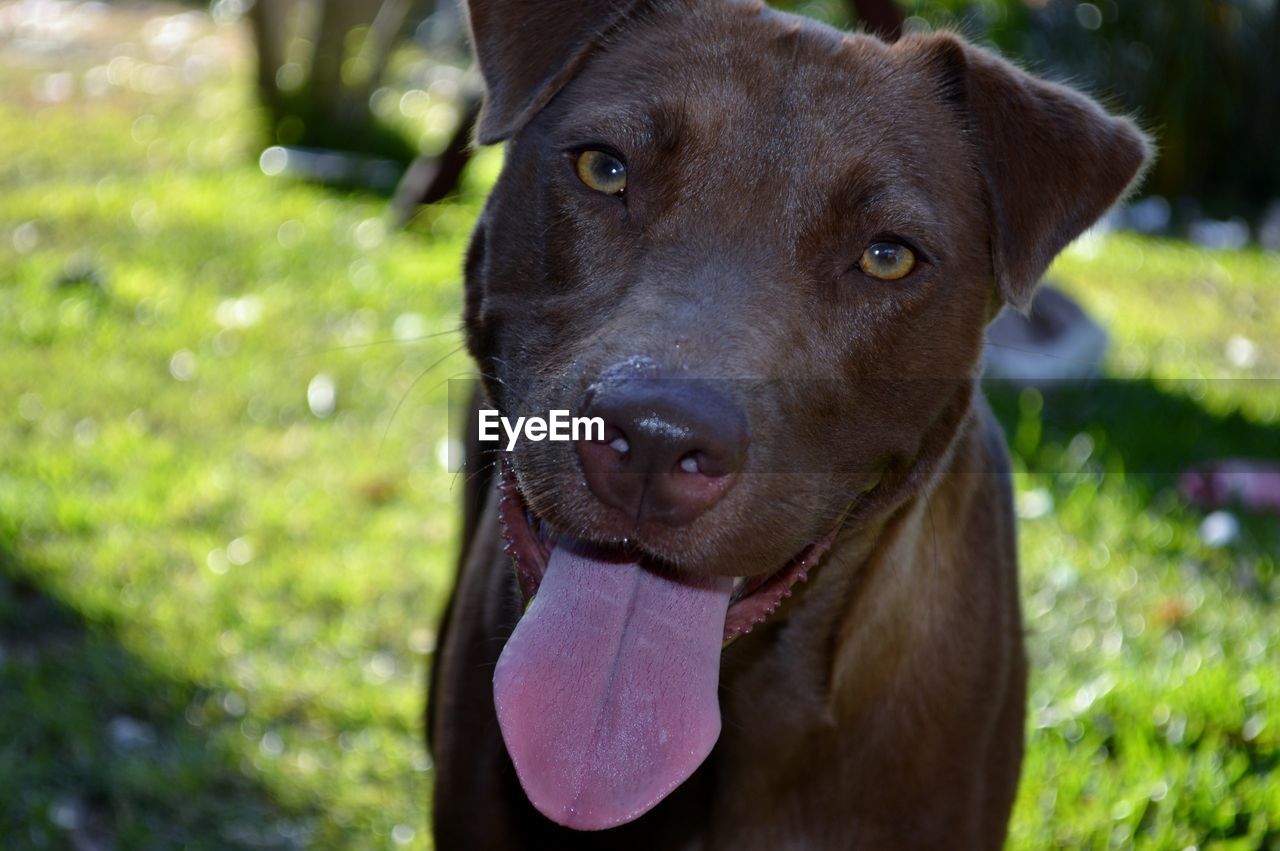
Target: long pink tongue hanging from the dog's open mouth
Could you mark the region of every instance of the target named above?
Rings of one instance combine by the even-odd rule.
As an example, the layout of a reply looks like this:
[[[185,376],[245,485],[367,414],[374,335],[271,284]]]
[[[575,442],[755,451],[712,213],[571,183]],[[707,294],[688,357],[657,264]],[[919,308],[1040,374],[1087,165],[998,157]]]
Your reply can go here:
[[[707,759],[731,589],[552,550],[493,677],[502,737],[543,815],[623,824]]]

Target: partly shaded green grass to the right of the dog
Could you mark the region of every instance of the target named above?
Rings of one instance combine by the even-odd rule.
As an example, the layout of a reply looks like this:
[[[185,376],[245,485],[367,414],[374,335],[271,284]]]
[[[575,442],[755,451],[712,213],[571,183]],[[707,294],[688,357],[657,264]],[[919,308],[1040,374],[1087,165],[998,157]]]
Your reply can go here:
[[[1034,665],[1011,846],[1277,848],[1280,522],[1207,546],[1176,473],[1280,457],[1280,257],[1112,237],[1051,278],[1114,347],[1089,385],[992,392]]]

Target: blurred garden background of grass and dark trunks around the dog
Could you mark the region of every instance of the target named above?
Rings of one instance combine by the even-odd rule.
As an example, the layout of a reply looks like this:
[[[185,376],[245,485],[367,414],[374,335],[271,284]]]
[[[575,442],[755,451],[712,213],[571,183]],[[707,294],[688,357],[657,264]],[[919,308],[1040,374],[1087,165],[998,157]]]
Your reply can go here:
[[[1280,848],[1280,9],[897,10],[1160,154],[1050,273],[1071,380],[988,385],[1010,847]],[[449,3],[0,0],[0,846],[430,847],[479,93]]]

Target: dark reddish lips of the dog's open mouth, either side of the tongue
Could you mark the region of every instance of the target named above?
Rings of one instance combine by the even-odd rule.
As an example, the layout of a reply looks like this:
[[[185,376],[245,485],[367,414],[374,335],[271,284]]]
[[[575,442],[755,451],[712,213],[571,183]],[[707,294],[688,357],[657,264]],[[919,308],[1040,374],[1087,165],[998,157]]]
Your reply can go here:
[[[598,562],[640,562],[650,569],[667,575],[682,573],[678,567],[646,550],[636,540],[628,537],[586,540],[559,532],[529,508],[511,465],[503,461],[500,468],[498,518],[502,523],[506,552],[515,563],[526,604],[538,594],[547,564],[556,549]],[[791,596],[792,589],[809,578],[809,572],[819,564],[838,531],[840,523],[836,522],[774,568],[765,568],[750,576],[735,576],[724,618],[724,642],[728,644],[764,623],[782,601]]]

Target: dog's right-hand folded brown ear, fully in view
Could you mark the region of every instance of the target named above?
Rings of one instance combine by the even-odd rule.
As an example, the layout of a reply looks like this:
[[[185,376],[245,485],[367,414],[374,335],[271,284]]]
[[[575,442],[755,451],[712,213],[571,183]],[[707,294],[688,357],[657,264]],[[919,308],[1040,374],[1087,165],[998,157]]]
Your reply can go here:
[[[920,51],[961,111],[987,195],[998,293],[1027,308],[1055,255],[1133,186],[1151,152],[1147,137],[1084,95],[955,36],[902,47]]]

